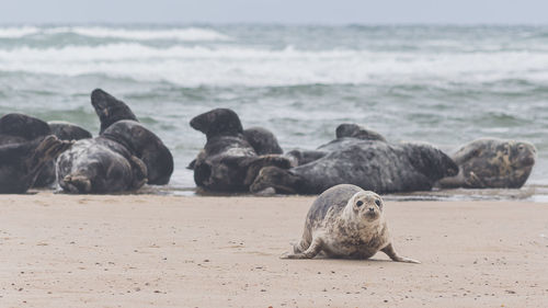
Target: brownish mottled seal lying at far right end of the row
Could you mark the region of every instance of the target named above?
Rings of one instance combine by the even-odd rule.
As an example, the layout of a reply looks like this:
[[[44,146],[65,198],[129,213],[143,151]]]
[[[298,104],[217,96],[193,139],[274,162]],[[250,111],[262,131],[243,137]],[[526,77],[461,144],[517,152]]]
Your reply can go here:
[[[536,148],[529,142],[483,138],[463,146],[453,160],[456,176],[437,182],[439,187],[520,189],[533,170]]]

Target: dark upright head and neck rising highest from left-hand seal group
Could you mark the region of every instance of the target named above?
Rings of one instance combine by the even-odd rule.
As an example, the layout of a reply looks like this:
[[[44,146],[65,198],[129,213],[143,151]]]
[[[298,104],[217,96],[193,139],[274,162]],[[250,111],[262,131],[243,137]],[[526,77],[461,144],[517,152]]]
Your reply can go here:
[[[93,109],[95,109],[95,113],[101,121],[99,134],[103,134],[109,126],[121,119],[133,119],[138,122],[126,103],[117,100],[102,89],[95,89],[91,92],[91,104]]]

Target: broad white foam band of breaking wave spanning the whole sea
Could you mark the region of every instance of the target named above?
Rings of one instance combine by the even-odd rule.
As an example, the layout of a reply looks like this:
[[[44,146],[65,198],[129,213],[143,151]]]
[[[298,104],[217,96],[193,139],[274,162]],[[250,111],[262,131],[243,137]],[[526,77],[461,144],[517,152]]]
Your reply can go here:
[[[185,87],[390,83],[420,79],[489,82],[548,79],[548,54],[267,49],[221,45],[155,48],[137,43],[0,49],[0,70],[104,73]]]

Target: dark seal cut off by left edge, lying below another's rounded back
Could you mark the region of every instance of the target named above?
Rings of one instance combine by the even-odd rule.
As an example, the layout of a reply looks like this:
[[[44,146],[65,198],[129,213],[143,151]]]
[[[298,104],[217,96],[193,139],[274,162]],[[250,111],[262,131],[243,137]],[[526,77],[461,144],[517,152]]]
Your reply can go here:
[[[67,150],[72,142],[54,135],[0,146],[0,193],[25,193],[46,163]]]

